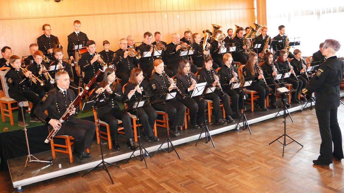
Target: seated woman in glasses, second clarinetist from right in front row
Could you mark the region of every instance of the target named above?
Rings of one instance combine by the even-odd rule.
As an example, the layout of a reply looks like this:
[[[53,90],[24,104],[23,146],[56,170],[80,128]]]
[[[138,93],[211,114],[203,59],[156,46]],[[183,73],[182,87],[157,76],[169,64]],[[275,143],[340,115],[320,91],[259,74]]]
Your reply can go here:
[[[275,66],[278,66],[280,70],[283,70],[281,73],[293,72],[293,69],[289,67],[287,50],[280,50],[275,64]],[[302,81],[296,80],[295,76],[284,78],[283,80],[286,81],[288,84],[292,84],[292,88],[297,90],[296,92],[291,93],[291,102],[299,104],[300,101],[298,100],[298,96],[302,89]]]

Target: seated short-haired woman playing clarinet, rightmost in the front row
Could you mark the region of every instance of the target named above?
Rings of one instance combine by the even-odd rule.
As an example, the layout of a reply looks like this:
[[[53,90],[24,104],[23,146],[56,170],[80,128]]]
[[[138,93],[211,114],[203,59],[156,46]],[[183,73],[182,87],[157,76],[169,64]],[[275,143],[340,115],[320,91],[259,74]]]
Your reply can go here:
[[[303,88],[306,87],[307,81],[309,80],[308,74],[306,72],[307,65],[306,65],[306,62],[301,57],[301,54],[302,54],[301,50],[294,49],[293,54],[294,54],[294,58],[290,61],[290,64],[294,67],[294,72],[296,76],[298,77],[298,79],[302,81],[302,87],[301,87],[301,90],[302,90]],[[301,96],[300,101],[307,101],[307,99]]]

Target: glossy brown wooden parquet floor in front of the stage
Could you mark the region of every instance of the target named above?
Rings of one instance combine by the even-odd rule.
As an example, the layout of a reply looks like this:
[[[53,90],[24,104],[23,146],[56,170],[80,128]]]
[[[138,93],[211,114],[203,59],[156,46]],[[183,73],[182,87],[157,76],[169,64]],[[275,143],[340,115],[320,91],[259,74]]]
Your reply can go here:
[[[143,162],[132,159],[110,167],[112,185],[103,170],[77,172],[23,186],[23,192],[344,192],[344,161],[330,167],[313,166],[319,154],[320,134],[315,110],[292,113],[287,134],[304,145],[268,145],[283,132],[282,118],[252,124],[248,130],[213,136],[216,147],[194,142],[178,145],[181,160],[159,152]],[[338,118],[344,133],[344,106]],[[290,140],[288,140],[290,141]],[[288,142],[287,141],[287,142]],[[7,172],[0,172],[0,192],[13,192]]]

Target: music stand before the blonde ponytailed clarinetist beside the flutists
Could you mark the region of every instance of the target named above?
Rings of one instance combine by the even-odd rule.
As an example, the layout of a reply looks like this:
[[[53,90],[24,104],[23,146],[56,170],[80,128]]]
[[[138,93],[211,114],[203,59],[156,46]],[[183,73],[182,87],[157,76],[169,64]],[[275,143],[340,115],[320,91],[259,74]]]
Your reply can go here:
[[[160,103],[160,102],[163,102],[164,103],[164,106],[165,106],[165,116],[166,116],[166,122],[169,120],[168,118],[168,114],[167,114],[167,107],[166,107],[166,101],[168,100],[171,100],[171,99],[174,99],[175,96],[176,96],[176,92],[168,92],[169,89],[165,89],[165,90],[162,90],[160,91],[160,96],[153,102],[153,103]],[[158,91],[159,93],[159,91]],[[162,99],[162,97],[164,97],[164,99]],[[160,100],[159,100],[160,99]],[[173,144],[172,144],[172,141],[171,141],[171,138],[170,138],[170,135],[169,135],[169,125],[166,124],[166,138],[165,140],[161,143],[161,145],[159,146],[159,148],[154,152],[153,154],[153,157],[155,156],[155,154],[157,154],[157,152],[159,151],[159,149],[163,150],[163,151],[166,151],[165,149],[162,149],[162,145],[167,141],[167,151],[168,153],[170,153],[172,150],[174,150],[175,154],[177,154],[178,158],[180,159],[177,151],[175,150]],[[171,146],[170,146],[171,145]]]

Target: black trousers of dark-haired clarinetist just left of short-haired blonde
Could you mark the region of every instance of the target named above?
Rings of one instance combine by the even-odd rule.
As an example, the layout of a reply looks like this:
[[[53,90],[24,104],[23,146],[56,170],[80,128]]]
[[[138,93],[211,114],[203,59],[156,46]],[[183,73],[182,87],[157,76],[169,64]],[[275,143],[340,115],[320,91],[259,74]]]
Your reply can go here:
[[[224,96],[222,96],[221,92],[218,89],[216,89],[214,93],[206,94],[205,99],[213,101],[213,107],[214,107],[213,112],[214,112],[216,121],[219,120],[220,118],[223,118],[222,113],[221,113],[221,108],[220,108],[220,99],[222,100],[226,117],[233,114],[232,109],[230,109],[228,95],[225,94]]]

